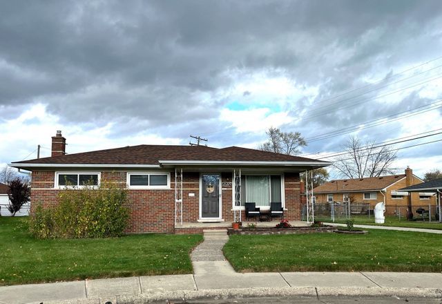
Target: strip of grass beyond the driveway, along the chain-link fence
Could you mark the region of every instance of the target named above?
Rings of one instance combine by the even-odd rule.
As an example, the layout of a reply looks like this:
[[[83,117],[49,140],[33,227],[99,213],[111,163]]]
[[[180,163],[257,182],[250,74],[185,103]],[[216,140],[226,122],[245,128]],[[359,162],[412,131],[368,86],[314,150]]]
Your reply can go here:
[[[374,216],[368,218],[368,216],[352,216],[356,225],[376,225],[376,226],[388,226],[388,227],[410,227],[410,228],[424,228],[424,229],[438,229],[442,230],[441,222],[423,222],[422,220],[408,221],[406,218],[399,220],[398,216],[385,216],[384,224],[375,224]],[[329,216],[315,216],[315,220],[321,222],[332,222]],[[335,218],[334,222],[345,224],[345,218]]]

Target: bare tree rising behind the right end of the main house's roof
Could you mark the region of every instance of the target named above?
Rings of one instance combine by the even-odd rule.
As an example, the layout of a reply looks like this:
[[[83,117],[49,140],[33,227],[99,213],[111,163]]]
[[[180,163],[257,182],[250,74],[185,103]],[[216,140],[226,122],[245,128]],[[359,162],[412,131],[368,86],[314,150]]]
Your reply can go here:
[[[278,128],[271,127],[266,134],[269,139],[258,146],[258,149],[262,151],[297,155],[300,153],[299,147],[307,146],[307,142],[299,132],[282,132]]]

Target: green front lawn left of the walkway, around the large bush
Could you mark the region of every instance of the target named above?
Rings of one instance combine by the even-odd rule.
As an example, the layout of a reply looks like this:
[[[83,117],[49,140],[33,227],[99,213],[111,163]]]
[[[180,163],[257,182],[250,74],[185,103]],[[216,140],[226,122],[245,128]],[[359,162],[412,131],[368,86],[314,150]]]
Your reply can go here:
[[[37,240],[26,218],[0,217],[0,285],[192,272],[201,235]]]

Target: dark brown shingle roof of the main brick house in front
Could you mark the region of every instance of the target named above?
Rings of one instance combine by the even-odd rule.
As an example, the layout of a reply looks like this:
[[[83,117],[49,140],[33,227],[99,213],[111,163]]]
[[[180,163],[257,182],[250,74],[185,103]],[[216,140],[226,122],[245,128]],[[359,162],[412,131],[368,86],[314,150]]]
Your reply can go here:
[[[12,162],[14,164],[159,164],[160,160],[258,161],[258,162],[320,162],[299,156],[229,146],[217,149],[209,146],[147,145],[91,151]]]

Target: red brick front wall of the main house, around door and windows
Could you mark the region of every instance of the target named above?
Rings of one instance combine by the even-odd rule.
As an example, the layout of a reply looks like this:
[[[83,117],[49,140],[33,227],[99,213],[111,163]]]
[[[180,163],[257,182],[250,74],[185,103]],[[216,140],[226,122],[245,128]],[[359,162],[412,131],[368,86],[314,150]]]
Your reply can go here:
[[[232,173],[222,173],[222,182],[232,182]],[[126,171],[102,171],[101,179],[126,184]],[[55,172],[33,171],[31,201],[41,202],[44,207],[57,204],[58,189],[54,189]],[[300,220],[299,173],[284,174],[285,218]],[[189,196],[194,193],[194,196]],[[183,222],[196,222],[200,213],[200,173],[183,172]],[[128,207],[131,220],[127,233],[175,232],[175,176],[171,173],[171,189],[129,189]],[[32,208],[31,208],[32,212]],[[232,187],[222,188],[222,219],[233,220]],[[245,218],[242,211],[242,218]],[[189,229],[189,232],[195,232]],[[188,232],[181,229],[180,233]]]

